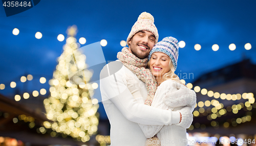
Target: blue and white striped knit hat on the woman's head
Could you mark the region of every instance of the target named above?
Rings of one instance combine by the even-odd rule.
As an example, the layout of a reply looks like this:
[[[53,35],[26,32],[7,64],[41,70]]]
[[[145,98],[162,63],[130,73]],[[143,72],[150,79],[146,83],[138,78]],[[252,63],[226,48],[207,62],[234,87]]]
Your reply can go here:
[[[179,42],[174,37],[165,37],[163,40],[156,43],[156,45],[152,48],[150,55],[148,55],[148,60],[150,60],[151,56],[155,52],[162,52],[172,59],[174,69],[177,68],[177,61],[179,56]]]

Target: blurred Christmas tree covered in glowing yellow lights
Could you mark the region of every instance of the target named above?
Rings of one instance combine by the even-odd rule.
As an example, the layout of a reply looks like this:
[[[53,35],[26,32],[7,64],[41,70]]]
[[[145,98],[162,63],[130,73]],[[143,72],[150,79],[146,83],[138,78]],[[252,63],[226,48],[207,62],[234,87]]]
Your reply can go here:
[[[49,81],[50,95],[44,100],[47,118],[44,126],[86,142],[97,132],[98,100],[92,99],[93,88],[89,84],[93,73],[87,69],[86,55],[76,42],[76,26],[69,27],[63,53]]]

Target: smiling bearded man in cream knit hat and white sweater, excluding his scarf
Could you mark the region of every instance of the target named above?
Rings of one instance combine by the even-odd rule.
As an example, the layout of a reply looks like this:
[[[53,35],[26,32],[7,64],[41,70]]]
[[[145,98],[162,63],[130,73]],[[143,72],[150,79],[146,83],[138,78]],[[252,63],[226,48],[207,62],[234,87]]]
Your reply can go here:
[[[143,12],[127,38],[128,50],[136,57],[144,59],[150,54],[157,41],[158,32],[154,25],[154,17]],[[120,61],[117,60],[104,66],[100,73],[100,91],[102,103],[111,124],[111,145],[145,145],[146,137],[138,124],[172,125],[180,123],[181,126],[191,124],[191,115],[184,114],[185,116],[180,118],[183,114],[179,111],[162,110],[138,104],[122,80],[125,74],[131,75],[140,83],[138,89],[141,91],[144,101],[147,98],[145,84]]]

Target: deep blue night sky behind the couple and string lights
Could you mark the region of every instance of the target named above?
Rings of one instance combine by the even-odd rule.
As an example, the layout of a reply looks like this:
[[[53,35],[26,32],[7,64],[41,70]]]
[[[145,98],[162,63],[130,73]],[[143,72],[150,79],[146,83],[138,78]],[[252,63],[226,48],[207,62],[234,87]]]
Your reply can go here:
[[[6,17],[0,6],[0,84],[6,89],[0,93],[13,98],[11,81],[25,74],[34,79],[52,78],[66,41],[57,36],[67,36],[69,26],[76,25],[76,38],[84,37],[88,45],[101,39],[108,41],[102,50],[106,61],[116,60],[121,51],[121,40],[126,40],[132,26],[142,12],[151,13],[158,28],[159,40],[173,36],[185,41],[180,48],[176,74],[193,73],[195,81],[200,75],[249,58],[256,64],[256,1],[40,1],[35,7]],[[12,34],[19,29],[17,36]],[[36,39],[35,33],[42,38]],[[236,44],[230,51],[229,44]],[[244,45],[250,43],[251,50]],[[200,51],[195,44],[202,46]],[[218,44],[218,51],[211,46]],[[239,69],[239,68],[238,68]],[[20,81],[19,81],[20,82]],[[17,83],[18,85],[18,83]],[[49,85],[33,83],[22,90],[49,89]],[[37,89],[37,90],[38,90]],[[97,90],[98,92],[98,90]],[[99,94],[99,93],[97,93]]]

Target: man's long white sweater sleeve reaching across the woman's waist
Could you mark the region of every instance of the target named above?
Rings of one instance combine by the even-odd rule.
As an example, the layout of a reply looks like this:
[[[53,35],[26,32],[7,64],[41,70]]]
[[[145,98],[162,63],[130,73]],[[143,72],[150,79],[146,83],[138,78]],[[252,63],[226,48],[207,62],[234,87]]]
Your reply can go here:
[[[125,118],[143,125],[171,125],[176,112],[139,104],[122,81],[124,72],[111,73],[111,67],[105,65],[100,73],[100,91],[102,100],[111,100]],[[115,66],[115,65],[114,65]],[[112,115],[115,116],[115,115]]]

